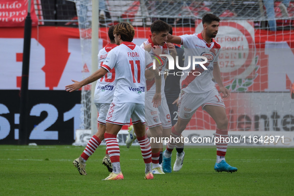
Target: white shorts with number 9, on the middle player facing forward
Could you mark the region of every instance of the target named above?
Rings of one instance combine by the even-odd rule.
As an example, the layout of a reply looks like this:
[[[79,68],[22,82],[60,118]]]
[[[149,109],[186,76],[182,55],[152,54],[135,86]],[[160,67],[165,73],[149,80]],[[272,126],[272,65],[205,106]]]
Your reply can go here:
[[[146,99],[145,112],[148,127],[155,127],[162,125],[162,128],[171,128],[172,120],[169,106],[166,98],[161,99],[161,105],[157,108],[153,107],[152,99]]]

